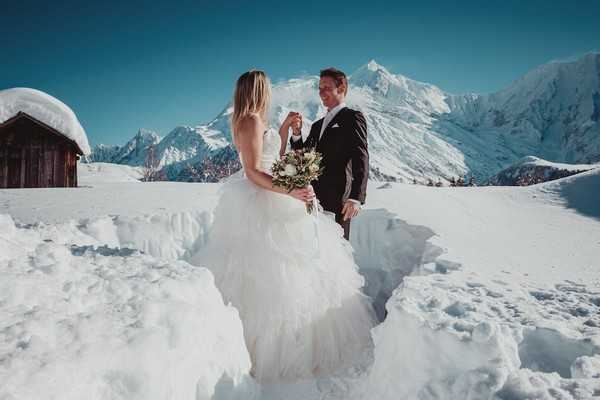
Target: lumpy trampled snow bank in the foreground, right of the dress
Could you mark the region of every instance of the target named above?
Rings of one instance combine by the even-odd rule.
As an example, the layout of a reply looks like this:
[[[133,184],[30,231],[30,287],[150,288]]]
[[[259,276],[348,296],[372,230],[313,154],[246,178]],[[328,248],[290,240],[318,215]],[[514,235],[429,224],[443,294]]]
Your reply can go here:
[[[596,395],[600,332],[585,326],[589,315],[571,316],[557,329],[550,328],[559,322],[560,309],[515,289],[469,278],[464,271],[406,277],[387,302],[385,321],[373,330],[374,363],[357,383],[353,398],[526,400]],[[598,313],[594,299],[593,292],[583,290],[578,301],[563,301]]]

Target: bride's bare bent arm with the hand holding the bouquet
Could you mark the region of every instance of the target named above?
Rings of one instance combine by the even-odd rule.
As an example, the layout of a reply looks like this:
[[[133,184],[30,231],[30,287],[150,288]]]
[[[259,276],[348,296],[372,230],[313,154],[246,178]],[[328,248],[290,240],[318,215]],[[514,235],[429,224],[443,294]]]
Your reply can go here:
[[[241,121],[237,144],[242,154],[244,171],[248,179],[256,185],[277,193],[289,194],[290,196],[309,201],[314,197],[311,187],[294,189],[290,193],[287,190],[273,185],[273,177],[260,169],[260,157],[263,146],[264,125],[258,116],[248,116]]]

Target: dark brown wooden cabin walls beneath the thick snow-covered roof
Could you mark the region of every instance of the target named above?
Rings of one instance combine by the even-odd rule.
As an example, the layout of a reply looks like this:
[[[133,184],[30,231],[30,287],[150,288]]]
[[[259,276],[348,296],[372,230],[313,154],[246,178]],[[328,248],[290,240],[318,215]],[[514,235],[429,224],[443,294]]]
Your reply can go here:
[[[76,187],[79,145],[19,112],[0,124],[0,188]]]

